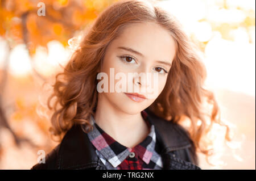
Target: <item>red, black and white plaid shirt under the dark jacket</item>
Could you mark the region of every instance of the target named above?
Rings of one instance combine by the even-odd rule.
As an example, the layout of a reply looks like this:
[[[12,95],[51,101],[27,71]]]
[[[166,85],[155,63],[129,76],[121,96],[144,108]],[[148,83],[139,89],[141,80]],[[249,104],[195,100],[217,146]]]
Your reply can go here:
[[[90,142],[108,170],[160,170],[163,168],[159,155],[159,144],[156,142],[155,127],[147,120],[147,113],[141,112],[150,133],[134,148],[127,148],[105,133],[91,116],[93,130],[88,133]]]

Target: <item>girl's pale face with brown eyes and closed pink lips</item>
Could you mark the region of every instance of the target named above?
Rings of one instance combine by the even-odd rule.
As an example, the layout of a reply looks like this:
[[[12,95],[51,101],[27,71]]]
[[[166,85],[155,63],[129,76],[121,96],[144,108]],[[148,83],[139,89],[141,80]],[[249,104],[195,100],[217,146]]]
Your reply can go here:
[[[108,80],[105,80],[107,82],[104,82],[108,84],[108,92],[100,93],[100,96],[104,97],[101,100],[108,101],[106,104],[129,114],[141,112],[150,106],[164,89],[174,56],[175,41],[167,30],[155,23],[130,24],[106,48],[101,72],[108,75]],[[113,69],[110,70],[110,68]],[[126,79],[122,78],[126,89],[121,92],[116,90],[110,92],[110,87],[113,85],[110,82],[113,81],[115,86],[121,81],[120,77],[115,79],[117,73],[126,75]],[[153,82],[154,74],[151,74],[151,79],[138,79],[140,73],[158,74],[157,85]],[[157,90],[154,96],[147,92],[147,88],[146,92],[144,91],[150,83]],[[131,85],[133,86],[132,92],[128,90]],[[131,96],[133,92],[144,95],[146,99]]]

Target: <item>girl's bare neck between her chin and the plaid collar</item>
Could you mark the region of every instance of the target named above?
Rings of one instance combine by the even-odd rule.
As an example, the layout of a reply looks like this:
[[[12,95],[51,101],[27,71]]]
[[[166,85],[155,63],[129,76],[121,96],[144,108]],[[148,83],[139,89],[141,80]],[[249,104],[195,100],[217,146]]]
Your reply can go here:
[[[100,95],[94,119],[109,136],[128,148],[138,145],[150,131],[141,112],[133,115],[123,112]]]

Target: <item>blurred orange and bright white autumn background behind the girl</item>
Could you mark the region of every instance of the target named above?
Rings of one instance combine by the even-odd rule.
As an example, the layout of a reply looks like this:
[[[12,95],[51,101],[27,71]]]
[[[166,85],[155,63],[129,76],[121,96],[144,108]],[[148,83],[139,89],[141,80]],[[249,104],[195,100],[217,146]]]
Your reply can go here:
[[[38,150],[48,153],[57,145],[49,137],[46,110],[39,106],[51,91],[43,84],[68,62],[72,38],[114,2],[0,0],[0,169],[30,169]],[[159,3],[202,50],[206,85],[216,95],[222,120],[233,129],[232,145],[216,143],[219,154],[212,161],[220,159],[218,166],[200,154],[200,167],[255,169],[255,1]],[[216,138],[223,136],[214,129]]]

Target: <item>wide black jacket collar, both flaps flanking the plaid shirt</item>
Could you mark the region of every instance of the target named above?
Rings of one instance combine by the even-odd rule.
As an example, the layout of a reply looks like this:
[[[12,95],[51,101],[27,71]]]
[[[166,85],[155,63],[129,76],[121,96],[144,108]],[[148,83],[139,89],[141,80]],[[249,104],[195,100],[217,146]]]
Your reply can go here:
[[[188,138],[179,130],[179,125],[166,121],[150,112],[148,121],[155,125],[156,140],[163,146],[161,154],[168,151],[179,150],[191,146]],[[182,129],[180,127],[180,129]],[[82,130],[81,125],[74,124],[65,134],[59,148],[58,169],[86,169],[104,167],[96,154],[96,149],[91,144],[88,135]]]

